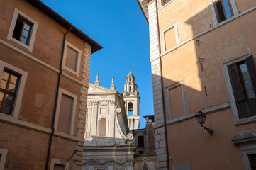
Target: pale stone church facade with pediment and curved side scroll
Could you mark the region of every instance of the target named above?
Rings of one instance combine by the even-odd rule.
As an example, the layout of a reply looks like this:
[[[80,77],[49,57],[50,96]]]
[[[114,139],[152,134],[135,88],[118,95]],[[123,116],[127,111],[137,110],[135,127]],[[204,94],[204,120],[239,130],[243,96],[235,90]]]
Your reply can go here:
[[[113,79],[110,89],[99,86],[98,76],[94,84],[89,84],[88,89],[82,170],[133,170],[136,146],[133,145],[133,135],[130,133],[131,124],[128,123],[129,107],[123,101],[134,102],[134,109],[140,100],[135,92],[137,85],[132,97],[135,100],[126,100],[130,91],[118,94]],[[139,113],[135,114],[135,120],[140,120]],[[133,128],[140,125],[136,123]]]

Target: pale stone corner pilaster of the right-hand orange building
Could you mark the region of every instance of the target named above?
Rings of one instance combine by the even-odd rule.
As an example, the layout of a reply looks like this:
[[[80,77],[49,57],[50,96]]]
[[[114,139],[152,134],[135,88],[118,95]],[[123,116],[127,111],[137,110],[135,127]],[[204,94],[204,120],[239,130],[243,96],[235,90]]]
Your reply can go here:
[[[157,1],[148,4],[148,21],[150,30],[150,61],[152,69],[152,84],[155,115],[155,147],[157,155],[157,169],[167,169],[167,147],[165,139],[165,119],[162,96],[162,77],[160,65],[160,45],[157,27]]]

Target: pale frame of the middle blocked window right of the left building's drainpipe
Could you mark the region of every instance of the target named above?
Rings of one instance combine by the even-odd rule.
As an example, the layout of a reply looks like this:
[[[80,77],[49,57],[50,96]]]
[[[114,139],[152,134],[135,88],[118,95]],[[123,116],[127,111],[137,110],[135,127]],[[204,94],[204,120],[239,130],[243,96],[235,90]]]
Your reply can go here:
[[[61,98],[62,98],[62,94],[65,94],[71,98],[73,98],[73,104],[72,104],[72,118],[70,120],[70,130],[69,130],[69,135],[74,135],[74,120],[75,120],[75,116],[76,116],[76,111],[77,111],[77,95],[72,94],[69,91],[66,91],[65,89],[60,88],[59,89],[59,93],[58,93],[58,98],[57,98],[57,109],[56,109],[56,115],[55,115],[55,125],[54,128],[55,130],[57,130],[57,125],[59,122],[59,116],[60,116],[60,102],[61,102]],[[57,130],[58,131],[58,130]],[[64,132],[60,132],[58,131],[60,134],[62,135],[67,135]]]

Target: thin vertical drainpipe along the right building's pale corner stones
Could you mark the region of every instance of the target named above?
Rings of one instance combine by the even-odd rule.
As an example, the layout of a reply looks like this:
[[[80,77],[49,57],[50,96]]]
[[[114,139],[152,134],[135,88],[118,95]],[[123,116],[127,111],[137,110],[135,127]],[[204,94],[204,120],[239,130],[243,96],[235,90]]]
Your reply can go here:
[[[157,33],[158,33],[158,44],[159,44],[159,54],[161,54],[161,45],[160,45],[160,30],[159,30],[159,18],[158,18],[158,1],[155,0],[155,6],[157,11]],[[162,59],[161,55],[159,55],[160,59],[160,72],[161,72],[161,86],[162,86],[162,99],[164,99],[164,83],[162,78]],[[169,150],[168,150],[168,141],[167,141],[167,128],[166,128],[166,118],[165,118],[165,102],[162,100],[162,111],[164,112],[164,123],[165,123],[165,145],[166,145],[166,157],[167,157],[167,169],[169,169]]]

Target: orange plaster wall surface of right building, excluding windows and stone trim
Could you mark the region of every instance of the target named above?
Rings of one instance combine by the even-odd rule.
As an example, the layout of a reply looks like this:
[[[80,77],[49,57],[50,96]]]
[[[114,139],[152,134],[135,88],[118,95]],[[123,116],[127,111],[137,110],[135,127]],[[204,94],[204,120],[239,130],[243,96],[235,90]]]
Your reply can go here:
[[[208,2],[174,0],[167,4],[159,11],[160,31],[177,21],[181,43],[208,29],[212,24]],[[236,3],[238,11],[255,5],[255,1]],[[248,53],[256,58],[255,16],[256,11],[251,11],[197,37],[200,45],[190,40],[162,55],[163,87],[184,79],[189,113],[229,102],[221,64]],[[204,60],[199,61],[199,57]],[[206,116],[204,125],[215,131],[213,136],[196,118],[167,125],[170,167],[190,163],[191,169],[245,169],[240,147],[231,139],[238,130],[255,128],[256,123],[235,126],[230,108]]]

